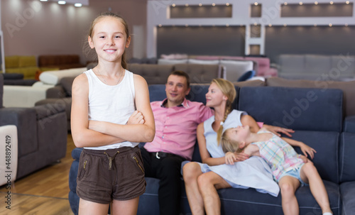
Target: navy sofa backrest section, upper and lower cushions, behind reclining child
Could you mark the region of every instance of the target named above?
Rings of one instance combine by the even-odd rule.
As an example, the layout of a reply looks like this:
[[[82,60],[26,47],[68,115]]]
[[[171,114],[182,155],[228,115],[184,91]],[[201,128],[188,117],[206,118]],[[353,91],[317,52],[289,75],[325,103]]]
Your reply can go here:
[[[239,109],[256,121],[293,128],[300,140],[317,153],[312,160],[322,179],[339,182],[339,136],[342,131],[342,91],[315,88],[243,87]],[[297,153],[302,154],[299,148]]]

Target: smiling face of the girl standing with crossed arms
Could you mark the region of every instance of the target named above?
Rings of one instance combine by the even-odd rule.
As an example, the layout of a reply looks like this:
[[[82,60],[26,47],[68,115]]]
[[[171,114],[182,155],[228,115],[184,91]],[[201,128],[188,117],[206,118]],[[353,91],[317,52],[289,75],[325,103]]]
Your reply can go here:
[[[121,20],[107,16],[95,23],[88,41],[90,48],[95,48],[99,60],[121,62],[124,50],[129,48],[131,42],[131,37],[127,36]]]

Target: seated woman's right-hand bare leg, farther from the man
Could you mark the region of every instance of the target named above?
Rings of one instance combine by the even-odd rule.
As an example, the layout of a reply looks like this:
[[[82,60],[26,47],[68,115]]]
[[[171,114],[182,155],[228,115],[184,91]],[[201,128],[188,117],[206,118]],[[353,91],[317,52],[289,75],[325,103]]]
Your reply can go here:
[[[215,172],[206,172],[200,175],[197,182],[202,194],[206,214],[221,214],[221,199],[219,199],[217,189],[231,187],[231,185]]]

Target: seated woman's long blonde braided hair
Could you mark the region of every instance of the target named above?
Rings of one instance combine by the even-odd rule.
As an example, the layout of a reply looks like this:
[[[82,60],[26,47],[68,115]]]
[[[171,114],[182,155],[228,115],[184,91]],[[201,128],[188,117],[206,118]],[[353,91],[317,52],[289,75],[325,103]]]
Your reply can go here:
[[[217,87],[221,89],[222,93],[224,96],[226,96],[228,99],[226,100],[226,109],[224,111],[224,117],[222,122],[226,121],[226,117],[228,114],[231,113],[232,111],[232,104],[234,99],[236,98],[236,88],[234,87],[234,84],[232,82],[229,82],[226,79],[222,78],[217,78],[217,79],[212,79],[212,82],[214,84],[217,84]],[[223,132],[223,125],[219,126],[219,129],[217,131],[217,143],[219,145],[222,137],[222,132]]]

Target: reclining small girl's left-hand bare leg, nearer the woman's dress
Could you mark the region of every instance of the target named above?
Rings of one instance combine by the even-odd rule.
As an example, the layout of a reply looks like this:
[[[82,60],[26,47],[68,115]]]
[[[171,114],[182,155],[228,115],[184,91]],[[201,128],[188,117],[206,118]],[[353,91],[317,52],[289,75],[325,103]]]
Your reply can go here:
[[[300,209],[295,196],[296,189],[300,187],[300,181],[295,177],[285,175],[281,177],[278,182],[281,191],[281,199],[283,204],[283,214],[285,215],[298,215]]]

